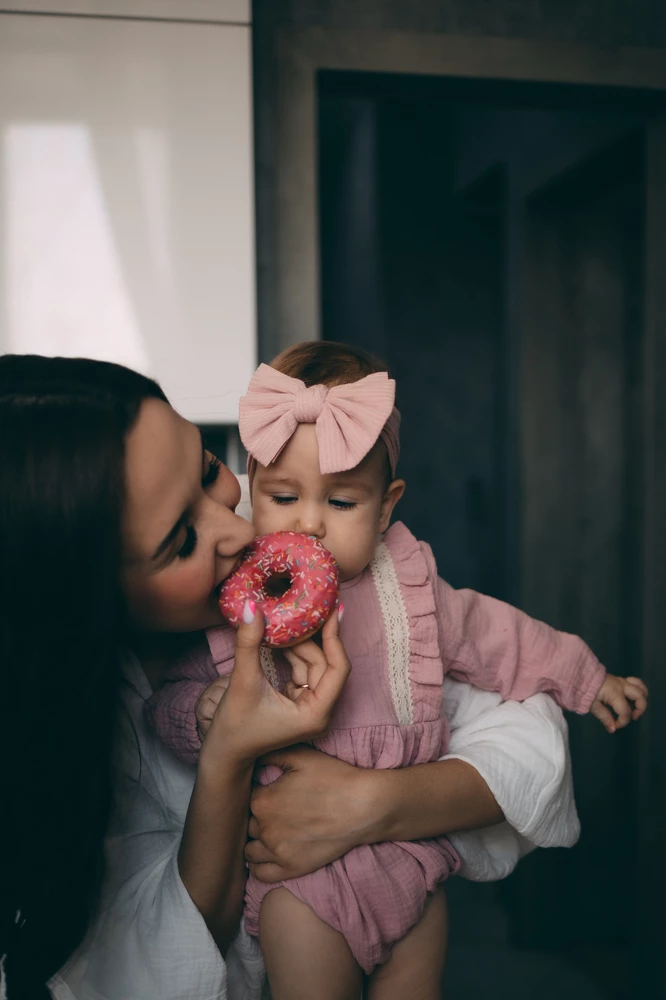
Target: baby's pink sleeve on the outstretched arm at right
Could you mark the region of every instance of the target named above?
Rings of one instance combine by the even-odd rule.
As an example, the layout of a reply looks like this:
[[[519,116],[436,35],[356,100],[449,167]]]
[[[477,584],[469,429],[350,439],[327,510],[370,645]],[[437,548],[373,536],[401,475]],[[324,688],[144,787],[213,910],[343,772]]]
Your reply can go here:
[[[562,708],[589,712],[606,671],[582,639],[441,578],[436,594],[447,674],[505,701],[545,692]]]

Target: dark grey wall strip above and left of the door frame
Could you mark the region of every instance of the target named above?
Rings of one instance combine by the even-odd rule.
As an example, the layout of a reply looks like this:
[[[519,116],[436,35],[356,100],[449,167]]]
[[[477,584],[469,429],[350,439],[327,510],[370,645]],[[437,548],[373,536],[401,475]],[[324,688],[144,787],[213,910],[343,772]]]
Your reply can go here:
[[[664,0],[254,0],[259,350],[276,316],[276,79],[280,28],[439,32],[587,45],[666,45]]]

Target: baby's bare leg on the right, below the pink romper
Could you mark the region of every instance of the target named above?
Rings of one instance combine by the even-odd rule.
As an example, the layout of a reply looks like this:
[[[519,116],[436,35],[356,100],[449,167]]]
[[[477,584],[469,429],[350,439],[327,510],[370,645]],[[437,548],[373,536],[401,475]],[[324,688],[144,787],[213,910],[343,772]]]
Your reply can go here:
[[[430,896],[415,927],[370,977],[368,1000],[441,1000],[449,931],[443,889]]]

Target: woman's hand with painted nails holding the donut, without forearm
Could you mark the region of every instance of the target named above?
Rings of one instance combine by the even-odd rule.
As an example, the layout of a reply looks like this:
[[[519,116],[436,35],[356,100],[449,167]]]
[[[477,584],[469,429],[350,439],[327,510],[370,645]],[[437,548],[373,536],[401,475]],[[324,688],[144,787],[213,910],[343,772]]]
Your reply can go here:
[[[280,694],[261,668],[263,620],[252,603],[246,605],[238,630],[233,673],[206,734],[200,768],[211,761],[225,766],[230,761],[252,763],[271,750],[320,736],[349,675],[338,615],[333,614],[322,630],[323,649],[310,640],[290,653],[295,673],[307,677],[307,686],[292,681]]]

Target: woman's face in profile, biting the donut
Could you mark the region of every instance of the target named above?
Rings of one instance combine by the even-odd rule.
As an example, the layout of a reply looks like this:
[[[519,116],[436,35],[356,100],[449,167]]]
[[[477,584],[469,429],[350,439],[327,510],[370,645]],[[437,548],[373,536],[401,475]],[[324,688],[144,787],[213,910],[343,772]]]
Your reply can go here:
[[[235,476],[197,428],[147,399],[127,438],[123,585],[136,628],[192,632],[219,625],[219,586],[252,526],[234,514]]]

